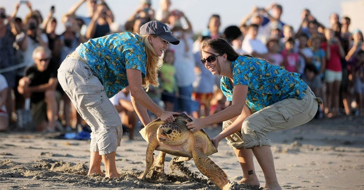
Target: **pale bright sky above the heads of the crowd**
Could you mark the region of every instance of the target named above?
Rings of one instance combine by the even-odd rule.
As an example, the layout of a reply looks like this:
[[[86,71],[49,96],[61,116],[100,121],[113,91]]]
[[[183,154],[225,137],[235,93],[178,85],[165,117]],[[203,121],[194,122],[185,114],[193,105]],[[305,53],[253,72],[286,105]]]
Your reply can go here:
[[[45,17],[51,5],[55,5],[55,17],[60,21],[62,15],[67,12],[71,5],[78,0],[30,0],[33,9],[41,11]],[[115,15],[115,21],[124,24],[128,17],[140,4],[140,0],[105,0],[111,7],[111,11]],[[185,13],[187,18],[193,25],[194,32],[201,32],[206,29],[209,17],[212,14],[219,14],[221,17],[221,32],[229,25],[239,25],[242,17],[247,15],[254,5],[258,7],[268,7],[273,2],[277,2],[283,6],[283,15],[281,20],[298,29],[301,19],[300,13],[302,9],[310,9],[313,16],[318,21],[328,26],[329,15],[333,12],[341,15],[341,3],[348,0],[171,0],[171,9],[179,9]],[[14,11],[15,0],[3,0],[0,3],[1,7],[5,7],[7,14]],[[159,9],[159,0],[152,0],[152,8],[156,11]],[[22,4],[18,15],[21,18],[28,13],[28,8]],[[87,8],[82,5],[76,12],[78,15],[87,16]],[[57,27],[57,32],[63,32],[62,24]]]

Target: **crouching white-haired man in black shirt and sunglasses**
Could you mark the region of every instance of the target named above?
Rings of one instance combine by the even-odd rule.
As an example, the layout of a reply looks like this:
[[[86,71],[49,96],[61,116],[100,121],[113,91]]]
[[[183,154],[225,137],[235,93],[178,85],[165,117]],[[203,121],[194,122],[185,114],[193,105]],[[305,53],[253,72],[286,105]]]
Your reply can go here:
[[[39,46],[33,50],[33,61],[19,80],[18,91],[31,101],[32,120],[36,129],[54,132],[57,123],[58,102],[61,94],[57,90],[58,79],[54,67],[50,66],[51,50]]]

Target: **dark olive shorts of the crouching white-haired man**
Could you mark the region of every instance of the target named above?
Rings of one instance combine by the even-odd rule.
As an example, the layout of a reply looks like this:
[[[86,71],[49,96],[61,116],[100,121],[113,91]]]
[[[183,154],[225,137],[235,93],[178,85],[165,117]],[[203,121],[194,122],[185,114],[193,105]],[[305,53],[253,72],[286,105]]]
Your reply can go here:
[[[56,101],[61,100],[61,93],[55,90]],[[47,121],[47,102],[41,100],[37,103],[32,103],[32,120],[35,126],[40,125],[43,121]]]

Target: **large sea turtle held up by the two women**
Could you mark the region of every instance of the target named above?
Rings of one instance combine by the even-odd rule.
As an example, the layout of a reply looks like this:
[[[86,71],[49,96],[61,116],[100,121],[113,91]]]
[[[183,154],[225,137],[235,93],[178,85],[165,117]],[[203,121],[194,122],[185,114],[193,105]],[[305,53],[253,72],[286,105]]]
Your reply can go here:
[[[139,133],[148,142],[146,151],[147,167],[139,177],[145,178],[154,162],[154,150],[161,151],[156,162],[164,163],[165,153],[186,157],[187,161],[193,158],[198,170],[206,175],[220,189],[229,189],[230,183],[226,173],[213,162],[209,155],[217,152],[205,130],[191,133],[187,129],[187,122],[192,120],[184,113],[175,115],[173,123],[165,123],[161,119],[154,120]],[[162,154],[163,153],[163,154]],[[158,163],[155,163],[158,164]]]

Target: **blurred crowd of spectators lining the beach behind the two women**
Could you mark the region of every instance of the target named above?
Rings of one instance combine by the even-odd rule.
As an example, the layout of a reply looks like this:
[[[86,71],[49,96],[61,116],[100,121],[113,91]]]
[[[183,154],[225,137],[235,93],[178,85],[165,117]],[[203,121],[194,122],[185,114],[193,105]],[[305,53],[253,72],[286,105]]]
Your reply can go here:
[[[83,4],[87,16],[77,13]],[[248,53],[300,73],[324,101],[317,118],[363,116],[363,33],[358,29],[349,31],[349,17],[332,13],[328,15],[329,26],[324,26],[309,9],[303,9],[300,27],[294,31],[281,20],[283,6],[273,3],[254,6],[242,16],[241,23],[225,29],[220,28],[220,16],[211,15],[205,31],[197,34],[188,15],[171,9],[171,4],[170,0],[160,0],[155,11],[150,0],[142,0],[126,23],[114,19],[106,0],[78,0],[60,21],[54,17],[54,7],[42,15],[31,1],[16,3],[11,15],[0,8],[0,130],[24,128],[27,122],[19,121],[24,120],[21,117],[31,117],[37,131],[72,130],[86,125],[58,84],[60,63],[88,39],[139,32],[140,26],[151,20],[168,24],[173,36],[180,40],[164,53],[161,85],[148,92],[167,111],[206,117],[229,106],[219,90],[219,76],[213,76],[200,62],[202,43],[222,37],[240,54]],[[24,18],[17,16],[20,6],[29,8]],[[58,24],[64,25],[63,33],[56,33]],[[112,102],[132,139],[139,125],[130,94],[123,90],[117,95]]]

